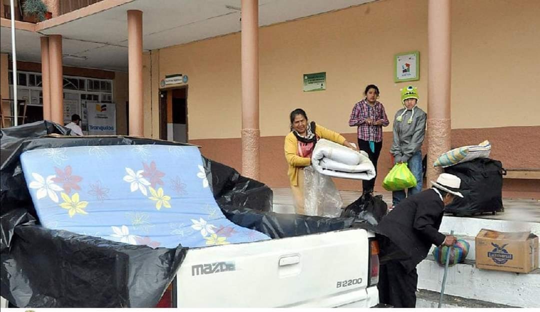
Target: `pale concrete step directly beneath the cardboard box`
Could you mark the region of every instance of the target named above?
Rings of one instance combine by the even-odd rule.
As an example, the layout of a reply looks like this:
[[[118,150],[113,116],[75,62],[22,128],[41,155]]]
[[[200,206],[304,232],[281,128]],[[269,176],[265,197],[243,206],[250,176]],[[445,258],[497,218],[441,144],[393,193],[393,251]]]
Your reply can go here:
[[[444,267],[433,256],[417,267],[418,288],[440,292]],[[540,269],[528,274],[478,269],[474,260],[448,268],[445,294],[512,307],[540,307]],[[438,299],[437,299],[438,300]]]

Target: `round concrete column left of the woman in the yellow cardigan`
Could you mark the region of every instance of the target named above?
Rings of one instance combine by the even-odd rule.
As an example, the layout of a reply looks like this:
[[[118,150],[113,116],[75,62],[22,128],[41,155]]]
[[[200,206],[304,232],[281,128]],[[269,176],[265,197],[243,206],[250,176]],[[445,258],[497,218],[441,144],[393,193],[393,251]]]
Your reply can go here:
[[[259,179],[259,1],[242,0],[242,175]]]

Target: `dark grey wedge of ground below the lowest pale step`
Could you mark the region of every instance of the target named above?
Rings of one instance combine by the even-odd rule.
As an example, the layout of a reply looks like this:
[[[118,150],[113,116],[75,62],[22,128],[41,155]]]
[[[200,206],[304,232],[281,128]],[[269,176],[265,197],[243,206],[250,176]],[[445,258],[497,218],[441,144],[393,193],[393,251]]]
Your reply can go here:
[[[419,290],[416,292],[416,308],[437,308],[441,293]],[[515,308],[482,300],[444,295],[442,308]]]

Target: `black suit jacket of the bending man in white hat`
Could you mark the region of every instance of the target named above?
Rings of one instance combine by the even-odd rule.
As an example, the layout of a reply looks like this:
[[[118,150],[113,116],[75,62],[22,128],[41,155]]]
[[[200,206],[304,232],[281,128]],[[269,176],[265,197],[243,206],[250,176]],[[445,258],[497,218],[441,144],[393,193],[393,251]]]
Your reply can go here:
[[[432,244],[444,242],[445,235],[438,231],[443,213],[444,204],[433,189],[403,199],[376,227],[376,232],[384,235],[379,241],[381,258],[399,260],[412,271],[426,258]],[[398,249],[400,256],[396,256]]]

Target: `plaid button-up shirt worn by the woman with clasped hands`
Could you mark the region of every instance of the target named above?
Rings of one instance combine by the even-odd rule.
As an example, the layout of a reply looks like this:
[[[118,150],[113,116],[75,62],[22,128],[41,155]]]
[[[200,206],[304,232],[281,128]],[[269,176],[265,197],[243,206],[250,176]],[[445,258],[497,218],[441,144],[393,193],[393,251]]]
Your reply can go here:
[[[382,120],[381,126],[368,125],[366,119],[373,121]],[[382,141],[382,127],[388,126],[390,122],[384,112],[384,106],[379,101],[375,101],[375,106],[371,107],[366,99],[356,103],[353,113],[350,114],[349,126],[358,126],[358,138],[364,141]]]

